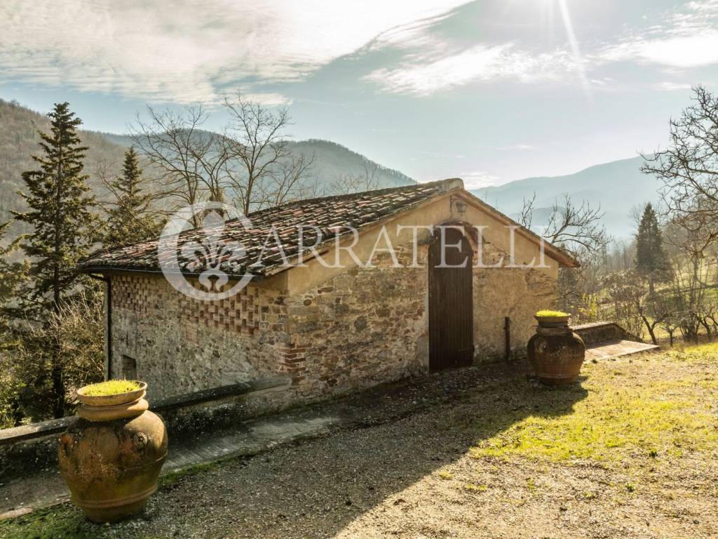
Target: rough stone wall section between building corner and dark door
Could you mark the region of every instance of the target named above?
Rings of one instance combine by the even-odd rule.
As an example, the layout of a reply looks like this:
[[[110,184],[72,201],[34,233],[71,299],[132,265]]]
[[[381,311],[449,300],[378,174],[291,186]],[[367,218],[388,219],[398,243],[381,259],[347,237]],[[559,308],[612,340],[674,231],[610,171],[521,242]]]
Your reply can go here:
[[[411,264],[409,253],[398,259]],[[358,390],[427,371],[428,275],[391,262],[388,255],[376,257],[373,267],[354,267],[286,298],[292,341],[280,364],[303,395]]]

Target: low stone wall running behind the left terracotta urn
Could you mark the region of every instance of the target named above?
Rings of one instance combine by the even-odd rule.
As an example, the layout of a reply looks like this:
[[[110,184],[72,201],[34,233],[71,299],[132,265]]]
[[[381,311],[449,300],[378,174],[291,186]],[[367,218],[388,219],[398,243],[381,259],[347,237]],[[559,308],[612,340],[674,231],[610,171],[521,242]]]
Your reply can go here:
[[[281,410],[292,379],[269,377],[215,387],[150,403],[162,416],[170,443],[174,436],[223,428]],[[0,430],[0,482],[57,465],[57,436],[78,417],[52,419]]]

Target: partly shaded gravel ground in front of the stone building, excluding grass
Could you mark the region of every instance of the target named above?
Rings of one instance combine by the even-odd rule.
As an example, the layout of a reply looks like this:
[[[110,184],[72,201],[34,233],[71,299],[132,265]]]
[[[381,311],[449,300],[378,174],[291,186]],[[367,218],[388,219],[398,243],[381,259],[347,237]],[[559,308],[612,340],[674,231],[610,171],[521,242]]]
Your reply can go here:
[[[613,369],[605,373],[610,376],[639,371],[656,376],[651,361],[640,366],[630,361],[585,369],[588,377],[597,377],[600,369]],[[711,378],[706,383],[715,382]],[[111,527],[83,522],[78,536],[718,536],[715,447],[709,454],[686,451],[607,461],[504,458],[470,451],[522,418],[571,414],[576,403],[591,398],[591,387],[546,390],[516,374],[391,423],[299,441],[183,476],[164,485],[143,518]],[[605,391],[612,388],[606,385]]]

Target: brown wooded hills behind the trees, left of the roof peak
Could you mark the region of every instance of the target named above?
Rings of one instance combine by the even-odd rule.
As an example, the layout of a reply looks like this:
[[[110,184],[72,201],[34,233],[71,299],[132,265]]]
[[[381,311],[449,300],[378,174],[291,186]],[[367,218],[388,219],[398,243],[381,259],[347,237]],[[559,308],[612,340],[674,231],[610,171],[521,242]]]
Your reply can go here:
[[[11,218],[11,210],[24,209],[23,200],[17,191],[24,190],[22,172],[35,166],[31,156],[37,155],[39,151],[37,129],[46,132],[50,129],[47,116],[26,109],[14,101],[0,99],[0,223]],[[80,138],[90,148],[85,160],[90,187],[102,196],[104,193],[101,193],[98,167],[117,174],[121,169],[123,152],[131,144],[131,139],[127,135],[91,131],[81,131]],[[314,154],[312,175],[320,183],[318,192],[322,194],[332,194],[330,184],[337,176],[359,175],[364,172],[364,165],[369,170],[376,169],[378,188],[414,183],[414,180],[398,170],[382,167],[334,142],[312,139],[289,144],[294,152],[307,156]],[[22,228],[22,224],[14,224],[12,231],[10,235],[14,236],[27,230]]]

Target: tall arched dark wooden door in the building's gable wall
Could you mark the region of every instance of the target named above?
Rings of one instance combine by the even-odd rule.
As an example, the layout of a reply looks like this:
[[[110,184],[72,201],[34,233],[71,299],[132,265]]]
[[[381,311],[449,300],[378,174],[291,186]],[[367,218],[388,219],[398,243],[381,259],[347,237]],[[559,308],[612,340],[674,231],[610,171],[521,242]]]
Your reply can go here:
[[[472,248],[460,230],[446,228],[429,247],[429,369],[470,365],[474,358]],[[461,247],[453,247],[461,243]],[[460,266],[464,267],[450,267]]]

